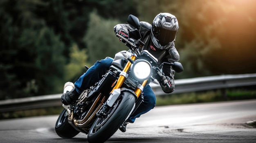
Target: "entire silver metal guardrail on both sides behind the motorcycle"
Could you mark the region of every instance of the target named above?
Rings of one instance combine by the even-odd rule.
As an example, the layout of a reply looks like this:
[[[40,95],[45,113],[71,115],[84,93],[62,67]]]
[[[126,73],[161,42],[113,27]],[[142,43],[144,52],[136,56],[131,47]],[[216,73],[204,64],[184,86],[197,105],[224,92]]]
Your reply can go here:
[[[256,85],[256,73],[242,75],[218,75],[175,80],[175,93],[226,89]],[[159,85],[150,84],[156,96],[166,95]],[[42,95],[0,101],[0,112],[12,112],[45,107],[62,106],[61,95]]]

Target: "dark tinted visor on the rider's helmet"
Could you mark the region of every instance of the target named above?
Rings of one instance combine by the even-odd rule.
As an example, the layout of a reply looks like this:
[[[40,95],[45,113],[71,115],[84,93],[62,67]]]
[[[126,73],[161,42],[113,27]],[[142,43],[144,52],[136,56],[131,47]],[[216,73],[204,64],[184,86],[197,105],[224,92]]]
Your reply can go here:
[[[175,40],[177,31],[171,31],[171,30],[167,30],[167,29],[163,29],[161,27],[155,26],[153,28],[152,33],[157,39],[157,41],[159,42],[159,44],[161,44],[162,46],[165,46],[173,42],[173,40]]]

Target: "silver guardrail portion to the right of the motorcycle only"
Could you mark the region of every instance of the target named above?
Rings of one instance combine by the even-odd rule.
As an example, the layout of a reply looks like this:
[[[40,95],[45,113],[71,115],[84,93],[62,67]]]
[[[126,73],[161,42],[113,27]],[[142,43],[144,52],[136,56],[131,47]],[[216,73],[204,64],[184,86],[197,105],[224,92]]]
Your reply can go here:
[[[195,77],[189,79],[175,80],[175,90],[173,93],[195,92],[213,89],[226,89],[242,86],[256,85],[256,73],[241,75],[218,75],[209,77]],[[152,85],[155,95],[164,95],[159,85]],[[172,93],[172,94],[173,94]]]

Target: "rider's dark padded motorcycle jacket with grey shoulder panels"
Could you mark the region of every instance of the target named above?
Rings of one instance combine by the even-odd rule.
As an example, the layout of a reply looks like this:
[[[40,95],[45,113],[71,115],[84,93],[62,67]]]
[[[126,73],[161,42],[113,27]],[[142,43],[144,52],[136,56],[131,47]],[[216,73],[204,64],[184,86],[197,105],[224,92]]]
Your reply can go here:
[[[152,55],[154,55],[158,59],[158,66],[162,64],[163,62],[178,62],[180,60],[180,55],[177,52],[174,43],[167,49],[158,49],[155,48],[152,40],[151,40],[151,24],[148,22],[141,21],[141,26],[139,27],[140,33],[130,24],[117,24],[114,27],[115,33],[117,31],[120,31],[121,29],[126,29],[129,32],[129,37],[138,40],[141,39],[142,42],[145,43],[145,46],[142,47],[141,50],[148,50]],[[167,88],[166,86],[162,86],[162,90],[165,93],[171,93],[174,90],[174,75],[175,71],[170,65],[164,64],[162,71],[165,76],[168,76],[171,78],[171,88]]]

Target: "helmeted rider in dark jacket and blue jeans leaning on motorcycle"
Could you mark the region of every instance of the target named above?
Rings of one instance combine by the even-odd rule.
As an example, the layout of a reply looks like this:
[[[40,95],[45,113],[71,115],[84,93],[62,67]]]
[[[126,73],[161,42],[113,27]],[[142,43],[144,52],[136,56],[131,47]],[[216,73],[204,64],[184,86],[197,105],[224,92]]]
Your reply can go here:
[[[163,62],[178,62],[180,55],[177,52],[174,41],[179,29],[177,18],[170,13],[159,13],[153,20],[153,24],[148,22],[140,22],[139,31],[130,24],[117,24],[114,27],[115,33],[123,37],[130,37],[135,40],[141,39],[145,46],[141,50],[148,50],[152,55],[158,59],[158,65]],[[75,88],[61,96],[63,104],[68,105],[72,101],[78,99],[81,92],[94,85],[102,75],[104,75],[112,63],[111,58],[101,59],[90,67],[86,73],[75,81]],[[162,68],[164,75],[159,78],[162,90],[165,93],[171,93],[174,90],[174,74],[173,68],[164,64]],[[166,86],[166,83],[170,87]],[[141,114],[148,112],[155,107],[156,98],[152,88],[148,85],[144,87],[144,102],[141,103],[139,108],[130,116],[129,119],[119,128],[122,132],[126,131],[128,122],[134,123],[135,119],[140,117]]]

